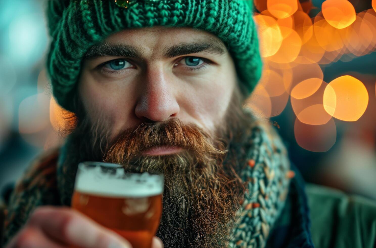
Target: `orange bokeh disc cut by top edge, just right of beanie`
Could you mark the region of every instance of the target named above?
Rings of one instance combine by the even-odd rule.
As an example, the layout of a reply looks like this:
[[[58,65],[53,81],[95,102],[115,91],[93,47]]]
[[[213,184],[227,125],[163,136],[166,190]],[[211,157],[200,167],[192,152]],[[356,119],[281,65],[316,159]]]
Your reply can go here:
[[[298,10],[297,0],[267,0],[268,11],[278,19],[286,18]]]

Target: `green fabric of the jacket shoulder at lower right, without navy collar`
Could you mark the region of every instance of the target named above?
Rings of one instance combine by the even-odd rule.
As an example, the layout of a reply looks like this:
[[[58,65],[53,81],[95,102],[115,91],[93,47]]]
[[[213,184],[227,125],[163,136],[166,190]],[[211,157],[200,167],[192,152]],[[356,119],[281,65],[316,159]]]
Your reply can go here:
[[[306,192],[315,247],[376,248],[374,201],[316,185]]]

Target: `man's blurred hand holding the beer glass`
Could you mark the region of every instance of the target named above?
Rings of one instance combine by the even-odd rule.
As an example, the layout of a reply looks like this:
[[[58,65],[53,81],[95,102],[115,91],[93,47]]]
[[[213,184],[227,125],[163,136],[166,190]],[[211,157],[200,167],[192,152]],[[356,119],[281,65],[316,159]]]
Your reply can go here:
[[[6,248],[130,248],[117,233],[68,207],[39,207]],[[153,238],[153,248],[162,241]]]

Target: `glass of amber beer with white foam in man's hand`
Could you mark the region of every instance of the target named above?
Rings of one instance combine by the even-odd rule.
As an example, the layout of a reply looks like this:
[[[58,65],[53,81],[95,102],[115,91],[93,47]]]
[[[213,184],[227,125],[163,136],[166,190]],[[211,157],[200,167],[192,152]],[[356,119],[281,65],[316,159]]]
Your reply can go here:
[[[119,164],[83,162],[72,207],[127,239],[150,248],[162,215],[164,176],[125,173]]]

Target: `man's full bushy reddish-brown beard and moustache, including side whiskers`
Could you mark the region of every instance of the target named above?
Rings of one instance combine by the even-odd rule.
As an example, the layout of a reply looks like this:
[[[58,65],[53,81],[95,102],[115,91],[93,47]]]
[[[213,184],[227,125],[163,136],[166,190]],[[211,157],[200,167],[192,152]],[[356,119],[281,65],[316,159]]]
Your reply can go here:
[[[233,103],[227,111],[226,126],[217,127],[212,135],[175,117],[143,123],[110,141],[109,126],[81,118],[70,134],[70,142],[80,154],[76,158],[71,155],[64,163],[105,161],[122,164],[131,172],[163,173],[163,211],[157,236],[165,247],[224,247],[245,190],[233,166],[238,164],[237,158],[227,156],[226,165],[223,163],[226,155],[237,153],[226,150],[232,133],[249,121],[240,121],[241,107]],[[158,145],[184,150],[170,155],[141,154]]]

